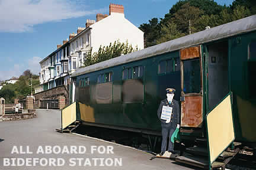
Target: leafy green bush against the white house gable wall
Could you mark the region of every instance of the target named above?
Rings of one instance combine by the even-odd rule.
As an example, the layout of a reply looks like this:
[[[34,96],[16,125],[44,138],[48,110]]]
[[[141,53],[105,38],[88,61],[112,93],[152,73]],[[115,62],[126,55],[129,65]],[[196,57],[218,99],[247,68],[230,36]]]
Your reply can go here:
[[[137,47],[134,49],[131,44],[126,41],[120,42],[114,41],[114,43],[110,43],[108,46],[100,46],[98,49],[97,53],[92,54],[92,48],[91,50],[87,53],[87,57],[85,58],[84,61],[84,66],[91,66],[92,64],[100,63],[105,60],[109,60],[111,58],[119,57],[122,54],[128,54],[132,53],[133,51],[137,51]]]

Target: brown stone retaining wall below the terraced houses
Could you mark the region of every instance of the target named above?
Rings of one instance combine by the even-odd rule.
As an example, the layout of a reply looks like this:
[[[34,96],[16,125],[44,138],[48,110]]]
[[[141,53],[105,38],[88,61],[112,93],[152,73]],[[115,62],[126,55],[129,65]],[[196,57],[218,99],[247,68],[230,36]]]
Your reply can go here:
[[[65,85],[58,86],[50,90],[45,90],[40,93],[34,94],[35,96],[35,107],[40,107],[40,100],[53,100],[58,99],[59,100],[59,108],[62,109],[66,106],[66,104],[69,103],[69,93],[68,89]],[[63,103],[64,102],[64,103]]]

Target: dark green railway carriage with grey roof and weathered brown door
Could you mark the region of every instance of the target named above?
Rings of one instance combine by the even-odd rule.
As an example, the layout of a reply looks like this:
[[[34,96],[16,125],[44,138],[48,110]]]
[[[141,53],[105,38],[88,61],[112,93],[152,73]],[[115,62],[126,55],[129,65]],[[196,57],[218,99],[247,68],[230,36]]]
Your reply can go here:
[[[181,138],[187,140],[207,136],[207,113],[231,94],[235,140],[255,146],[255,75],[252,15],[79,68],[70,96],[79,102],[76,119],[85,125],[161,135],[156,110],[165,89],[174,88]]]

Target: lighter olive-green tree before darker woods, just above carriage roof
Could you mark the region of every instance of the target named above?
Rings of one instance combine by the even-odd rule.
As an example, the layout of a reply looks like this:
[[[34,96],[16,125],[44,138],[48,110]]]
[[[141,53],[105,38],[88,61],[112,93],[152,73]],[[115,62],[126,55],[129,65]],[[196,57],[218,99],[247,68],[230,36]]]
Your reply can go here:
[[[161,37],[156,40],[157,44],[174,40],[175,38],[183,37],[185,34],[177,30],[177,25],[169,22],[167,25],[162,25]]]

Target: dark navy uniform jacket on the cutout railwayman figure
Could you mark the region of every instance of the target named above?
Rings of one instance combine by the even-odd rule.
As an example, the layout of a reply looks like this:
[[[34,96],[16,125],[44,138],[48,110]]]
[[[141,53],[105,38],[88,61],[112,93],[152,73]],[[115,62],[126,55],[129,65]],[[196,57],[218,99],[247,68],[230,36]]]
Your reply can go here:
[[[172,115],[169,123],[165,123],[166,120],[160,119],[162,113],[162,106],[172,107]],[[169,104],[167,99],[162,100],[158,107],[157,113],[158,119],[161,121],[162,126],[172,126],[172,128],[176,128],[177,124],[180,124],[180,104],[177,102],[177,100],[172,99],[171,104]]]

